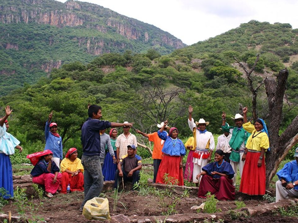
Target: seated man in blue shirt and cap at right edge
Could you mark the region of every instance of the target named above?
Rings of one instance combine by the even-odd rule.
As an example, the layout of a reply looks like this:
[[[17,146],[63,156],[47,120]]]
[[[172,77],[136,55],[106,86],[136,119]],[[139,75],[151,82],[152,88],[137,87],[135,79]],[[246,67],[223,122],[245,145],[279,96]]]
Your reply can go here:
[[[295,160],[288,162],[276,173],[275,202],[288,199],[289,197],[298,197],[298,147],[294,153]]]

